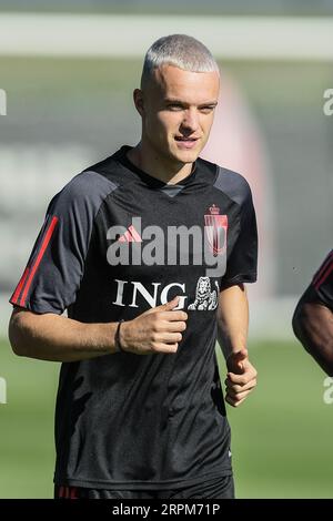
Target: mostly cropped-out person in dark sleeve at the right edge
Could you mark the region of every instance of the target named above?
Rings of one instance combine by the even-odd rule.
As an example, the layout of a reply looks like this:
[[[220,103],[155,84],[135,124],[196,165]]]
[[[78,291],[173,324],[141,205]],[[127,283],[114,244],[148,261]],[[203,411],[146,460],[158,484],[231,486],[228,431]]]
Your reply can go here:
[[[307,353],[333,376],[333,249],[302,295],[293,329]]]

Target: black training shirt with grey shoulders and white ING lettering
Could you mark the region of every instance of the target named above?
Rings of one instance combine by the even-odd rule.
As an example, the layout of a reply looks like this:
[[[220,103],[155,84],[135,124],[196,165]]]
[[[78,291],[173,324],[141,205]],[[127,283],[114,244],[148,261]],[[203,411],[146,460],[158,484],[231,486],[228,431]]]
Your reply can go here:
[[[256,279],[251,191],[241,175],[201,159],[186,178],[164,184],[131,164],[129,150],[53,197],[10,302],[108,323],[180,295],[186,330],[176,354],[61,365],[58,484],[171,489],[231,473],[216,309],[221,289]]]

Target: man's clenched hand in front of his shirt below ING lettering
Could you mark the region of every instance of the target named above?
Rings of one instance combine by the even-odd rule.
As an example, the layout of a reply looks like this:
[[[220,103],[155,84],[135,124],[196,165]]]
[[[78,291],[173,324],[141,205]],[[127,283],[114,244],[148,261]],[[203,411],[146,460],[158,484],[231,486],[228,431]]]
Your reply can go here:
[[[135,355],[153,353],[176,353],[186,329],[188,314],[173,309],[180,297],[162,306],[142,313],[133,320],[124,321],[120,328],[120,344],[123,350]]]

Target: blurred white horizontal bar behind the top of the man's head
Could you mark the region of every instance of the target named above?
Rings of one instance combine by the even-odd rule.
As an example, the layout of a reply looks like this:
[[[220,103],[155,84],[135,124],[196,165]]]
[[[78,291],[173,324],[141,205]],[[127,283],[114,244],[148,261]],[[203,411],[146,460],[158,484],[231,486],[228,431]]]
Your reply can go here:
[[[333,20],[324,17],[0,13],[6,55],[141,58],[174,33],[202,40],[219,58],[333,60]]]

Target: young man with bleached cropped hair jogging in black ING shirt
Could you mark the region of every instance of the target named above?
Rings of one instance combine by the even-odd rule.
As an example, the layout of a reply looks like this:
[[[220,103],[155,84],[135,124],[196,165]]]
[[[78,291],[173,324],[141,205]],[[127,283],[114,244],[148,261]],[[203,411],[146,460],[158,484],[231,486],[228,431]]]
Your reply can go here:
[[[193,38],[149,49],[140,143],[56,195],[11,297],[14,353],[63,362],[56,497],[233,497],[214,346],[218,330],[236,407],[256,377],[256,227],[245,180],[198,159],[219,83]]]

